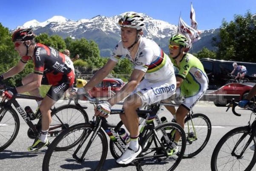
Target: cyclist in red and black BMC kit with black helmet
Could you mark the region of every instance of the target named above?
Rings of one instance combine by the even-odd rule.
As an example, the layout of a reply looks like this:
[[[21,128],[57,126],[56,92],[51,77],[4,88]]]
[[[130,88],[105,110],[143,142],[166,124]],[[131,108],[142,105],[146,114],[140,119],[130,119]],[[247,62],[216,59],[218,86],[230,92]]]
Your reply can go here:
[[[12,77],[23,71],[26,63],[33,60],[34,72],[22,79],[22,86],[9,89],[9,96],[17,93],[29,92],[33,96],[40,97],[41,84],[52,85],[42,101],[37,102],[42,114],[42,128],[40,137],[36,138],[29,151],[48,145],[47,133],[51,122],[50,109],[62,96],[62,94],[74,83],[75,72],[72,61],[66,55],[54,48],[35,43],[35,34],[31,28],[18,29],[12,35],[15,50],[21,56],[16,66],[0,75],[0,80]],[[38,113],[38,112],[37,112]]]

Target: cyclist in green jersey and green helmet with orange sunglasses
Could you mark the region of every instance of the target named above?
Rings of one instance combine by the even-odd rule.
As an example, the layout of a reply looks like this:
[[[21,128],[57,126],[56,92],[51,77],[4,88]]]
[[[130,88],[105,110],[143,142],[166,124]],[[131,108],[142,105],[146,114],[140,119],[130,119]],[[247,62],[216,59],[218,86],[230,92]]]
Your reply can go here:
[[[176,76],[176,97],[184,97],[184,101],[177,111],[173,106],[165,106],[183,128],[187,113],[196,105],[208,88],[208,77],[204,71],[204,66],[197,57],[185,52],[187,46],[187,38],[181,34],[170,38],[170,58],[179,71]],[[180,136],[175,134],[175,142],[178,142],[179,139]]]

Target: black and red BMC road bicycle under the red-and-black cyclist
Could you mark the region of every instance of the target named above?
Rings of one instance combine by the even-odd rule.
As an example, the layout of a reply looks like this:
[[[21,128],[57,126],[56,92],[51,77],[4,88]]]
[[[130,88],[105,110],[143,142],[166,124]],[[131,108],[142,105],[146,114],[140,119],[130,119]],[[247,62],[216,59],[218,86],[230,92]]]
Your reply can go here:
[[[39,136],[41,130],[41,117],[36,119],[37,123],[32,121],[35,118],[32,118],[32,115],[26,114],[23,107],[20,106],[17,99],[22,100],[43,100],[42,97],[35,97],[30,95],[16,94],[11,99],[8,99],[6,96],[6,91],[8,88],[6,85],[0,85],[0,95],[3,96],[2,101],[0,102],[0,151],[3,151],[17,137],[17,134],[20,129],[20,120],[18,114],[23,118],[26,124],[29,126],[27,135],[31,139],[35,139]],[[79,104],[72,105],[69,100],[68,105],[62,105],[58,108],[55,106],[52,107],[51,116],[52,122],[50,124],[48,132],[48,140],[51,142],[55,137],[58,136],[62,131],[69,128],[71,125],[78,123],[87,123],[89,121],[88,115],[84,108]],[[28,103],[31,103],[29,101]],[[12,107],[17,110],[15,111]],[[17,113],[18,112],[18,113]],[[37,116],[40,116],[40,110],[38,110]],[[68,146],[58,146],[56,150],[65,150],[69,148]]]

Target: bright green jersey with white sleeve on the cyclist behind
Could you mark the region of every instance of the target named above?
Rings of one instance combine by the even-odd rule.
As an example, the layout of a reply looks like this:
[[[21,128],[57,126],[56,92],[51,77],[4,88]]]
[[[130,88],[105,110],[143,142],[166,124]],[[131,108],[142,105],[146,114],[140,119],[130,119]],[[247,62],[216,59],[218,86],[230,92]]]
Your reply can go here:
[[[202,84],[208,84],[204,66],[197,57],[187,53],[179,64],[173,58],[171,58],[171,61],[178,68],[177,77],[181,77],[184,80],[181,83],[181,88],[186,92],[184,95],[193,96],[200,90]]]

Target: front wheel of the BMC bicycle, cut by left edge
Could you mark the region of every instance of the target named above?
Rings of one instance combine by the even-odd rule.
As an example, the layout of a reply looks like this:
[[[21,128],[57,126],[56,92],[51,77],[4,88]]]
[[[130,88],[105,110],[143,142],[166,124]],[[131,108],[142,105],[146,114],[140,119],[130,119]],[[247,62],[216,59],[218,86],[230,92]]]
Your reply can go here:
[[[0,114],[0,151],[3,151],[17,137],[20,129],[19,116],[13,108],[4,110]]]

